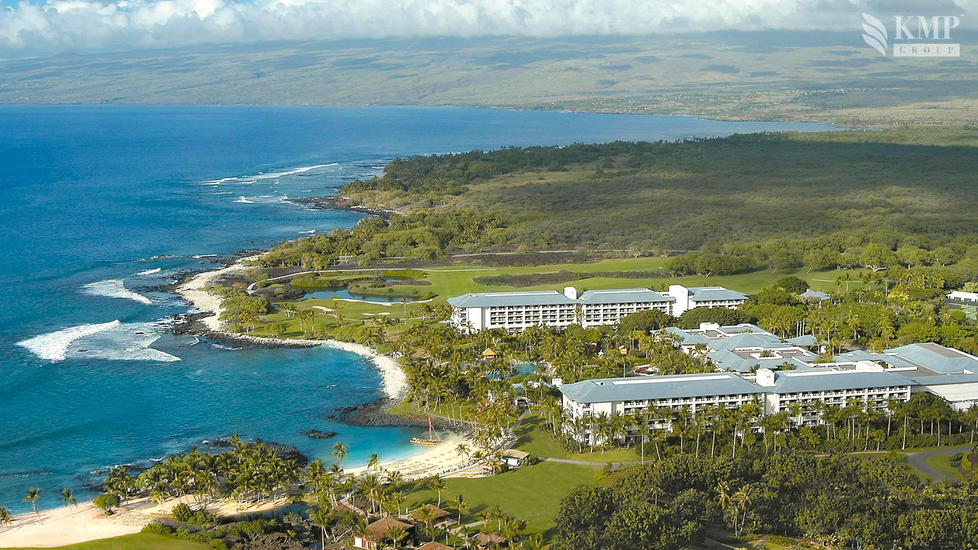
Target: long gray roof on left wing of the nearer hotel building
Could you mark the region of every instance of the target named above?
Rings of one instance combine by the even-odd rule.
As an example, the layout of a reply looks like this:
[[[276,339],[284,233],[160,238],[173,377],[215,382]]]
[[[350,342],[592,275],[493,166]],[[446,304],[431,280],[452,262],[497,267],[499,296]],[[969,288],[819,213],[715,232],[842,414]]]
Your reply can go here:
[[[560,387],[560,391],[568,399],[578,403],[604,403],[753,394],[764,390],[733,373],[707,373],[584,380],[565,384]]]

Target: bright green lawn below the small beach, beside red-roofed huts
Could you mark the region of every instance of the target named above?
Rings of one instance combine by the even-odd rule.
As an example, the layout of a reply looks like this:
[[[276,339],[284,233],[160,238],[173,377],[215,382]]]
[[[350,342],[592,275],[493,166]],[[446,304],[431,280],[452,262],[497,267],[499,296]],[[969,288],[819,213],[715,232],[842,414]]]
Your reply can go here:
[[[445,480],[448,488],[441,495],[442,508],[457,517],[458,511],[449,501],[462,493],[468,506],[462,514],[463,523],[478,521],[480,512],[498,504],[504,512],[527,520],[527,531],[546,532],[554,527],[560,499],[579,484],[597,484],[599,472],[599,466],[541,462],[488,478],[453,478]],[[417,483],[409,484],[406,492],[411,507],[438,500],[433,490]]]

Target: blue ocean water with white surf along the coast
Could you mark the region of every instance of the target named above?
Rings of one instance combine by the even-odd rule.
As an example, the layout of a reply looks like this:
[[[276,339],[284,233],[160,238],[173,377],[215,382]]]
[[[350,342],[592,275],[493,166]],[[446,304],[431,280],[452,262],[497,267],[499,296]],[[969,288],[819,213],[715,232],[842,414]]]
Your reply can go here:
[[[334,409],[380,396],[343,351],[233,349],[174,337],[179,298],[150,290],[215,255],[361,214],[289,201],[378,173],[394,156],[657,140],[822,124],[450,108],[0,106],[0,505],[111,465],[151,464],[234,433],[347,464],[411,452],[414,432],[352,428]],[[314,440],[304,429],[331,430]],[[79,490],[81,496],[86,491]],[[94,495],[94,493],[93,493]]]

